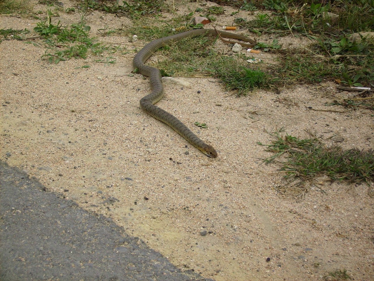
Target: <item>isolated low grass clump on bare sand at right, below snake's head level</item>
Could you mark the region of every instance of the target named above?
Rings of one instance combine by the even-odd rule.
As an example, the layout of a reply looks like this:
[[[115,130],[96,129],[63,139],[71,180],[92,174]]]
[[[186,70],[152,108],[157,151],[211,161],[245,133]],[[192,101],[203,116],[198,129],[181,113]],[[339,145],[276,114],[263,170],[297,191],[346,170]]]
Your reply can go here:
[[[360,151],[356,148],[344,150],[338,145],[327,147],[318,138],[299,139],[288,134],[281,136],[279,132],[272,136],[276,140],[271,144],[258,144],[275,153],[264,162],[281,163],[280,170],[285,173],[285,178],[299,178],[305,182],[325,175],[332,181],[365,182],[369,186],[374,182],[373,149]],[[282,155],[286,160],[275,160]]]

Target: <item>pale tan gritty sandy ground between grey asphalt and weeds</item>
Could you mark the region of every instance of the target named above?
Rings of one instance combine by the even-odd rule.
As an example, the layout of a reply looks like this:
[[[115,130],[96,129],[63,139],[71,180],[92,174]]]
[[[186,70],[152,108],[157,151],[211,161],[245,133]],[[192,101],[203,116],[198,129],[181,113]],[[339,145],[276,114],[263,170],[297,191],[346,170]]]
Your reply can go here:
[[[178,13],[188,5],[194,9],[195,3],[176,2]],[[232,24],[226,9],[218,24]],[[79,18],[61,12],[59,19],[71,24]],[[89,20],[93,35],[104,26],[131,24],[100,12]],[[0,28],[32,30],[35,23],[1,16]],[[146,43],[104,39],[121,42],[127,51]],[[268,132],[284,127],[300,138],[309,137],[309,130],[322,139],[337,135],[344,148],[373,148],[372,112],[324,106],[348,94],[334,84],[240,98],[215,79],[186,78],[191,88],[168,85],[159,106],[217,149],[218,158],[211,159],[141,111],[139,100],[149,85],[142,75],[130,75],[134,52],[112,54],[116,64],[97,63],[93,56],[49,64],[41,58],[42,46],[8,40],[0,47],[1,159],[50,191],[113,218],[174,265],[206,278],[323,280],[328,272],[347,269],[354,280],[373,280],[374,199],[367,185],[321,179],[303,198],[295,196],[279,166],[262,164],[272,154],[256,143],[269,143]],[[193,126],[195,121],[208,129]]]

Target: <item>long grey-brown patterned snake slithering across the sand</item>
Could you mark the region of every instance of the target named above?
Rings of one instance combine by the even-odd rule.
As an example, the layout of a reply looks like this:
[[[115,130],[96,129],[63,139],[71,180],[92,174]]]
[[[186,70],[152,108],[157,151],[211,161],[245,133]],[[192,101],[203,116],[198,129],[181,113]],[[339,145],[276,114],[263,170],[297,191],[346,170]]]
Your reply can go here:
[[[161,82],[161,72],[156,67],[145,64],[145,61],[147,61],[148,58],[154,52],[156,52],[157,49],[165,45],[169,45],[184,38],[191,38],[204,35],[218,35],[221,39],[222,37],[226,37],[243,40],[245,42],[248,42],[240,43],[240,45],[245,47],[251,47],[255,45],[254,40],[249,39],[244,35],[234,34],[226,31],[218,31],[216,29],[193,29],[152,40],[135,55],[132,61],[132,65],[134,69],[137,69],[138,73],[149,77],[149,83],[151,87],[151,93],[147,96],[142,97],[142,99],[140,100],[140,108],[147,112],[147,114],[151,115],[157,120],[162,121],[172,129],[174,129],[175,132],[179,133],[184,139],[186,139],[186,141],[190,142],[193,146],[195,146],[197,149],[203,152],[203,154],[205,154],[208,157],[215,158],[217,157],[217,151],[213,148],[213,146],[208,145],[207,143],[202,141],[190,129],[188,129],[188,127],[184,125],[183,122],[181,122],[177,117],[155,105],[164,96],[164,88]],[[224,40],[224,42],[232,43],[228,40]]]

